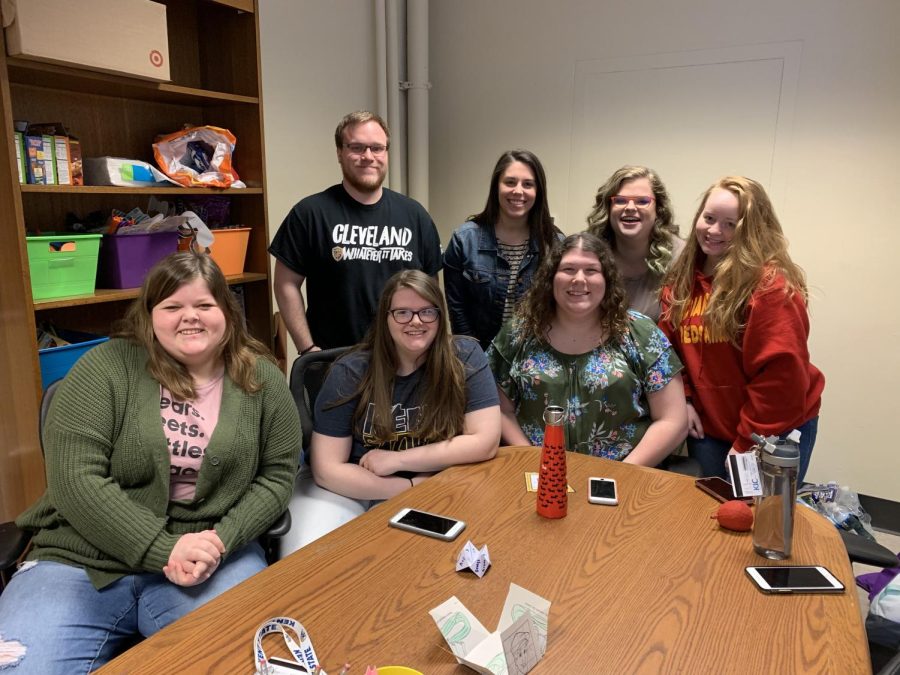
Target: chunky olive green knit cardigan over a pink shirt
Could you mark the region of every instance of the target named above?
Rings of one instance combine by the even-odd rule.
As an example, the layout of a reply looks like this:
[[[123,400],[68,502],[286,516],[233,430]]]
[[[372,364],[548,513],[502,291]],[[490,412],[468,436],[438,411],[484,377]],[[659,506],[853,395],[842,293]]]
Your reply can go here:
[[[160,386],[147,352],[123,339],[72,368],[44,425],[47,491],[16,523],[36,530],[29,560],[83,567],[96,588],[161,572],[178,538],[215,529],[226,555],[284,512],[300,456],[300,421],[284,375],[257,361],[262,389],[227,376],[219,421],[190,502],[169,501]]]

